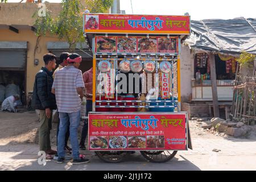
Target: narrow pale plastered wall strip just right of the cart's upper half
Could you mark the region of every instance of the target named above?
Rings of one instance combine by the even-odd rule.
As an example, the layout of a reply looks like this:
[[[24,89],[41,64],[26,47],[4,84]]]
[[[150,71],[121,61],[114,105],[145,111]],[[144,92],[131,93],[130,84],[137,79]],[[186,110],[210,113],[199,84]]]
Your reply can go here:
[[[192,87],[191,78],[193,78],[193,54],[189,47],[181,46],[180,56],[180,75],[181,75],[181,102],[188,102],[191,98]]]

